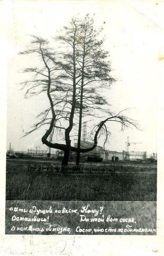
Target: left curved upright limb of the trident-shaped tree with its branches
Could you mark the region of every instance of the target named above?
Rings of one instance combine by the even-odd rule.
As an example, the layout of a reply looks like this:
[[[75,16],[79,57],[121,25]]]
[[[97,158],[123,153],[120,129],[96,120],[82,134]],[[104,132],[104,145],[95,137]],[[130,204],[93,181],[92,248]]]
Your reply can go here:
[[[61,73],[61,64],[56,61],[56,53],[54,51],[52,52],[47,40],[33,36],[31,47],[20,54],[36,54],[39,56],[41,63],[41,67],[26,68],[24,70],[24,72],[30,72],[34,75],[33,80],[22,83],[23,88],[28,86],[25,97],[46,92],[50,103],[48,109],[38,114],[37,118],[40,119],[39,122],[35,123],[32,130],[26,133],[25,136],[38,130],[43,125],[50,125],[42,137],[42,142],[47,143],[47,138],[53,134],[54,129],[59,129],[59,131],[61,129],[66,130],[62,126],[62,123],[64,120],[69,120],[67,111],[69,105],[72,104],[69,101],[69,86],[64,82],[67,77],[64,77]],[[53,143],[53,148],[59,150],[67,149],[65,145],[58,143]]]

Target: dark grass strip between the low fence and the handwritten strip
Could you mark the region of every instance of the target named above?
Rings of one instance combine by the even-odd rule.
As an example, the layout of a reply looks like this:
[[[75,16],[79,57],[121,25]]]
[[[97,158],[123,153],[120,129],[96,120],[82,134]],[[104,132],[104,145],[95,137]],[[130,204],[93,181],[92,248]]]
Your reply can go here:
[[[7,172],[6,200],[156,201],[155,173],[29,176]]]

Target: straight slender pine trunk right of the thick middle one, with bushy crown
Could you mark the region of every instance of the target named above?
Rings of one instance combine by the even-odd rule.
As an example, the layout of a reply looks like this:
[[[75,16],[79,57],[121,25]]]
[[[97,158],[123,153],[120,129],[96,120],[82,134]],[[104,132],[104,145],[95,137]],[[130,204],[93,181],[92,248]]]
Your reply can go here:
[[[102,106],[108,105],[99,89],[111,85],[115,81],[111,77],[109,54],[103,50],[103,39],[100,39],[101,29],[94,29],[94,20],[85,16],[76,20],[77,31],[77,67],[80,72],[78,79],[77,102],[79,103],[79,128],[77,142],[76,164],[80,161],[81,126],[83,116],[96,117],[94,110],[104,112]],[[97,111],[96,111],[97,112]]]

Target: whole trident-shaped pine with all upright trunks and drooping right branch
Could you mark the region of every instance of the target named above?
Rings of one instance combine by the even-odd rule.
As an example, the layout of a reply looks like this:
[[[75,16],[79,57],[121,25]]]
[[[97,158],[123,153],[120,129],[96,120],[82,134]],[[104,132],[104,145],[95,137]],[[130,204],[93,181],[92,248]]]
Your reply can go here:
[[[71,151],[77,153],[76,163],[79,164],[80,153],[94,150],[101,134],[105,134],[105,145],[110,134],[110,121],[121,123],[122,129],[137,127],[137,124],[122,115],[122,112],[111,113],[107,100],[99,92],[100,88],[109,86],[114,79],[110,74],[108,52],[102,49],[103,40],[99,39],[101,30],[97,31],[93,26],[93,19],[73,18],[70,26],[64,27],[61,34],[55,38],[55,42],[58,42],[58,45],[60,43],[60,51],[54,51],[47,40],[33,36],[30,48],[21,52],[36,54],[40,60],[37,67],[24,70],[34,75],[33,80],[23,83],[28,86],[25,96],[46,92],[49,100],[49,107],[39,113],[39,121],[25,135],[46,125],[48,129],[42,136],[42,143],[64,152],[62,166],[67,166]],[[81,148],[81,125],[83,118],[87,116],[96,120],[91,133],[93,146]],[[71,145],[70,133],[77,120],[78,145],[75,147]],[[53,133],[57,131],[63,131],[65,144],[53,141]]]

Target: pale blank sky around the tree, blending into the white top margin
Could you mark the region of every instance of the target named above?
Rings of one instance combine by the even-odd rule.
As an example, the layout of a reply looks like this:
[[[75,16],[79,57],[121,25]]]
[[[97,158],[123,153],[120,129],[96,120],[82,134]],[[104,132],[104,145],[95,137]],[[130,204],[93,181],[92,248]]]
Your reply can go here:
[[[44,97],[24,99],[19,71],[32,65],[31,58],[18,55],[29,44],[28,35],[53,37],[56,30],[68,24],[72,16],[94,15],[97,26],[105,21],[105,47],[110,51],[112,75],[117,82],[107,92],[115,111],[132,108],[127,115],[139,120],[142,131],[125,130],[112,125],[107,148],[122,151],[127,136],[131,150],[157,152],[157,109],[160,68],[164,49],[163,2],[155,1],[6,1],[2,20],[7,33],[7,147],[45,149],[41,144],[43,130],[21,138],[35,121],[45,104]],[[160,60],[160,61],[159,61]],[[101,145],[102,141],[99,142]]]

